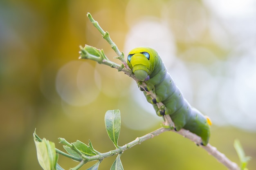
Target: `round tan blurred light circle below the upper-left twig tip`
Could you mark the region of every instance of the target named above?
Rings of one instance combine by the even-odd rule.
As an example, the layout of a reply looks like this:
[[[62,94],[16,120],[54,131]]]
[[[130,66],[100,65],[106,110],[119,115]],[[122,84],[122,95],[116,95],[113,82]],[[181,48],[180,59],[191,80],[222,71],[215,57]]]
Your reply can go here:
[[[101,88],[99,73],[93,71],[94,68],[90,64],[81,61],[69,62],[61,67],[56,76],[56,91],[61,99],[73,106],[93,102]]]

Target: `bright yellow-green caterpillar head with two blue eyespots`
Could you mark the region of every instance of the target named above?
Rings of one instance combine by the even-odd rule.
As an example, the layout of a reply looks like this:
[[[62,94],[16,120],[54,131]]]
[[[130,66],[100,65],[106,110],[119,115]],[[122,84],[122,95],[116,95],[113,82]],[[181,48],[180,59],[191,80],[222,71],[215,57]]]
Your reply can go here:
[[[142,46],[129,52],[127,63],[137,79],[146,81],[158,64],[158,58],[159,56],[154,49]]]

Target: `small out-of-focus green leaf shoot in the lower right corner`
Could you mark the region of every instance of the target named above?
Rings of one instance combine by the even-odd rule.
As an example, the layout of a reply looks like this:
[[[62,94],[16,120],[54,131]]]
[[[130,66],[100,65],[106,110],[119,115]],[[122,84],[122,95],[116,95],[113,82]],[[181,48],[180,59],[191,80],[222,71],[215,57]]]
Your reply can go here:
[[[251,160],[251,157],[245,156],[245,152],[243,150],[243,147],[242,147],[242,145],[241,145],[241,143],[238,139],[236,139],[234,141],[234,148],[236,149],[237,155],[238,155],[239,160],[240,160],[241,170],[247,169],[246,166],[247,166],[248,161]]]

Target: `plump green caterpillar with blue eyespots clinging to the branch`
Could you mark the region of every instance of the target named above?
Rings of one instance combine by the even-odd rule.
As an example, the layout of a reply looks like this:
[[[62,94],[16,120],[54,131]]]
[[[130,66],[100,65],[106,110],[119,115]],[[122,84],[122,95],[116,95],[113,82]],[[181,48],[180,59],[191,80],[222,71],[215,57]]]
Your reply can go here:
[[[135,48],[129,52],[127,63],[135,77],[146,82],[145,90],[156,94],[156,99],[152,99],[144,91],[146,99],[153,104],[157,115],[170,115],[175,130],[187,129],[202,138],[202,145],[207,145],[210,137],[210,119],[192,108],[184,99],[157,52],[146,46]],[[164,111],[159,110],[158,102],[165,105]]]

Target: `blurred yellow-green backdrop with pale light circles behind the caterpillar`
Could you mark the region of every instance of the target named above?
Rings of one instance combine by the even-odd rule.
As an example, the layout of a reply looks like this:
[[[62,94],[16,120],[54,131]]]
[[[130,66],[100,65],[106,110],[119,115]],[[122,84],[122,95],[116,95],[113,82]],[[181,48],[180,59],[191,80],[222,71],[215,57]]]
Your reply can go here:
[[[116,54],[90,12],[125,54],[155,48],[191,103],[213,121],[210,143],[239,163],[239,139],[256,167],[256,3],[253,0],[0,1],[0,169],[40,170],[32,133],[58,144],[79,139],[114,149],[104,114],[121,110],[119,145],[160,127],[162,119],[124,73],[78,60],[79,45]],[[120,63],[120,62],[119,62]],[[115,157],[99,169],[109,169]],[[132,170],[225,170],[188,139],[165,132],[121,157]],[[65,157],[59,164],[76,165]],[[88,163],[81,169],[87,169]]]

